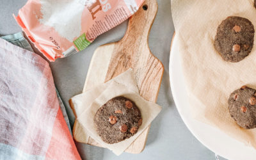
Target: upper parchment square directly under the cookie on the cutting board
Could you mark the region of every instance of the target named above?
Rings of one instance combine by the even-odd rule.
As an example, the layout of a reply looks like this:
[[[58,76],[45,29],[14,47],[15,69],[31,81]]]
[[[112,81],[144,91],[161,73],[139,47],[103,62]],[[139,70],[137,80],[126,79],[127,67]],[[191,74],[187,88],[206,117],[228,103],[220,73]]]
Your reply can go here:
[[[138,132],[134,134],[134,136],[132,136],[131,138],[115,144],[104,143],[104,141],[101,140],[99,134],[97,133],[97,129],[93,123],[93,118],[95,116],[95,113],[101,106],[108,102],[108,100],[118,96],[126,97],[136,103],[138,108],[140,108],[143,122],[138,129]],[[93,103],[91,104],[91,102]],[[85,104],[87,103],[91,104],[90,108],[88,108],[81,115],[79,115],[77,120],[83,125],[83,127],[88,132],[88,135],[91,136],[93,140],[100,143],[103,147],[109,148],[116,155],[122,154],[122,152],[124,152],[124,150],[128,148],[129,145],[131,145],[131,143],[136,140],[136,138],[138,138],[138,136],[140,136],[141,132],[143,132],[148,127],[148,125],[150,125],[152,120],[154,120],[154,118],[161,111],[160,106],[158,106],[154,102],[149,102],[143,99],[138,93],[130,90],[129,86],[117,83],[116,81],[113,81],[111,84],[109,84],[108,88],[104,90],[104,92],[97,99],[92,101],[90,100]]]

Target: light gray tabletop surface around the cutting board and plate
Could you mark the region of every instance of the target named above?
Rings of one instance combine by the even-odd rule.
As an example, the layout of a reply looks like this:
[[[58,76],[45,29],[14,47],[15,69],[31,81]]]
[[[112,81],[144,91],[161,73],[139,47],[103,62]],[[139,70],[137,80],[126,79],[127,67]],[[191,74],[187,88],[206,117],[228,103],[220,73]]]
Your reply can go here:
[[[26,0],[0,0],[0,36],[21,31],[12,13],[17,15],[18,10],[25,3]],[[164,76],[157,100],[157,104],[161,105],[163,110],[152,122],[145,150],[141,154],[124,153],[115,156],[108,149],[76,143],[83,159],[215,159],[214,153],[205,148],[189,132],[173,102],[168,70],[170,44],[174,31],[170,0],[158,0],[158,7],[156,20],[149,35],[149,45],[151,51],[164,65]],[[126,28],[127,21],[100,35],[84,51],[50,63],[56,87],[66,105],[71,125],[74,124],[74,115],[68,105],[68,99],[82,92],[93,52],[99,45],[120,40]]]

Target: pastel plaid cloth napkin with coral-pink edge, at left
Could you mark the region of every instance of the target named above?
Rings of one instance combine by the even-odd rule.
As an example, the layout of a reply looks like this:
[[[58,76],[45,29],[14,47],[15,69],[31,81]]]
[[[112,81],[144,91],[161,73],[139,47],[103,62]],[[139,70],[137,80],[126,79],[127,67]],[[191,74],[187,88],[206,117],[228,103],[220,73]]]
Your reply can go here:
[[[1,38],[0,111],[0,159],[81,159],[49,63]]]

